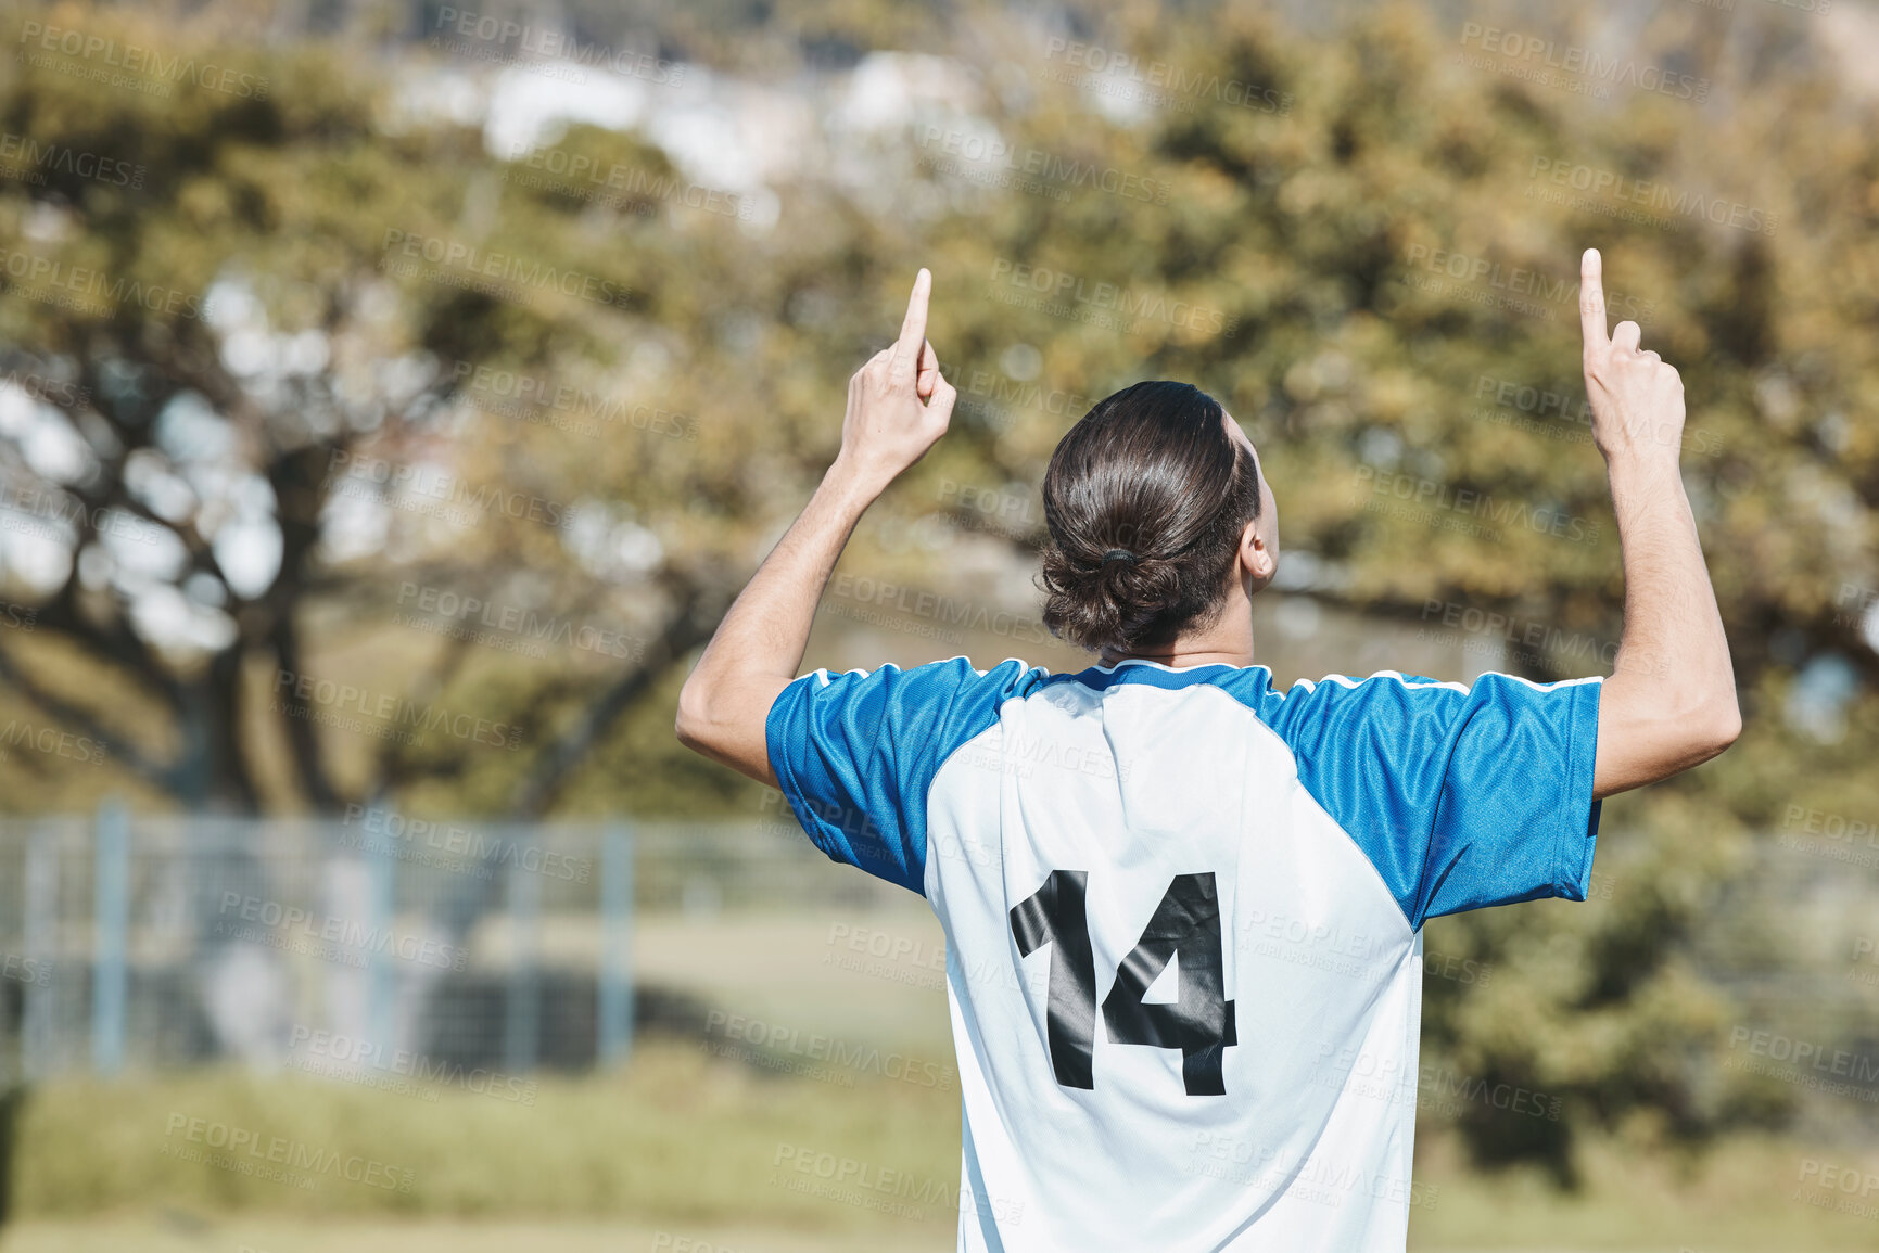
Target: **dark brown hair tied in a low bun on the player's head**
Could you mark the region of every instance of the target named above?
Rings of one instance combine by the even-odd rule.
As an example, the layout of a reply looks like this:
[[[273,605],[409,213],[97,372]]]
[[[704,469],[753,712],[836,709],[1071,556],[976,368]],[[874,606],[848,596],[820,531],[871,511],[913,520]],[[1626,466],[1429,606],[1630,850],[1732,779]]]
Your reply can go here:
[[[1090,652],[1139,652],[1219,616],[1259,470],[1218,400],[1148,381],[1069,428],[1043,496],[1045,626]]]

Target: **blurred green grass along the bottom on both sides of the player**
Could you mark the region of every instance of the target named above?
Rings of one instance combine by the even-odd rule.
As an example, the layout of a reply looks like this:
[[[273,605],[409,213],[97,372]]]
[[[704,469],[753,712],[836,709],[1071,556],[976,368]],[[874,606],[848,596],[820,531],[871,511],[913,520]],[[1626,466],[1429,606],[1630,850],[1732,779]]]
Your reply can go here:
[[[656,1043],[624,1073],[543,1080],[532,1106],[436,1097],[229,1071],[41,1086],[17,1123],[17,1223],[0,1249],[953,1247],[956,1088],[778,1076]],[[299,1146],[314,1185],[167,1153],[192,1144],[188,1120],[203,1120],[203,1138],[210,1125],[252,1133],[252,1161],[265,1163],[272,1137],[284,1153]],[[789,1191],[778,1183],[793,1178],[793,1150],[909,1172],[938,1200],[902,1217]],[[1434,1131],[1417,1157],[1434,1200],[1413,1212],[1419,1251],[1879,1247],[1879,1223],[1808,1204],[1834,1193],[1802,1189],[1808,1159],[1879,1170],[1845,1150],[1738,1140],[1682,1161],[1603,1142],[1582,1153],[1576,1195],[1530,1172],[1469,1172]],[[378,1178],[346,1178],[348,1161],[361,1163],[355,1174],[378,1163]]]

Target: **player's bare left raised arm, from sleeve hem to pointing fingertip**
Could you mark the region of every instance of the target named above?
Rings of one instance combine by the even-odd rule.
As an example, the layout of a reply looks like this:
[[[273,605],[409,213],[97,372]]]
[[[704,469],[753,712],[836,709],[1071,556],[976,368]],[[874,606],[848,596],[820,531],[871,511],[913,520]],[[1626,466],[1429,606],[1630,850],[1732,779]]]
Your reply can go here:
[[[776,787],[763,729],[797,676],[815,603],[855,522],[894,477],[945,434],[958,393],[926,342],[932,274],[913,280],[900,338],[847,381],[842,451],[797,520],[718,624],[678,693],[686,748]]]

